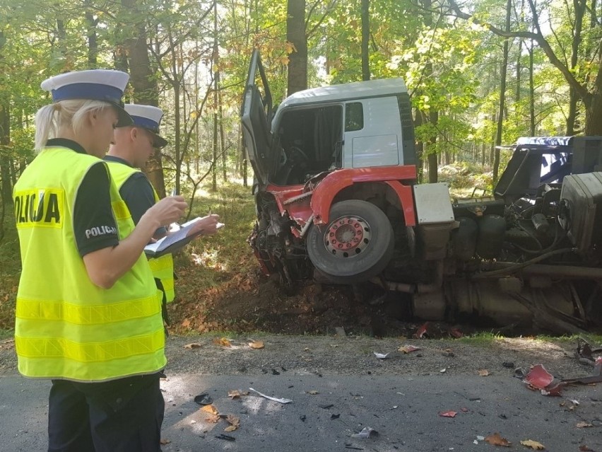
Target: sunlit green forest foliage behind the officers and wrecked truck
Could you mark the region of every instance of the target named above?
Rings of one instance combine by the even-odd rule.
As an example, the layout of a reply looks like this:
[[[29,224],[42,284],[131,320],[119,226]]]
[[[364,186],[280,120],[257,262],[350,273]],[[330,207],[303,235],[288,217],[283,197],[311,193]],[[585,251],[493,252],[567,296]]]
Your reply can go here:
[[[602,134],[599,0],[512,1],[509,30],[507,0],[290,2],[305,4],[297,35],[305,28],[309,87],[362,79],[361,13],[369,5],[363,77],[369,71],[371,79],[406,81],[431,166],[456,158],[490,163],[502,95],[502,143],[531,133]],[[165,111],[170,145],[157,163],[165,185],[191,190],[216,164],[220,180],[240,175],[238,115],[252,50],[261,50],[276,104],[287,92],[291,58],[300,56],[287,39],[288,6],[0,0],[0,108],[8,118],[0,177],[12,183],[33,157],[33,116],[49,101],[40,82],[89,67],[129,71],[126,100]],[[504,42],[508,76],[501,93]]]

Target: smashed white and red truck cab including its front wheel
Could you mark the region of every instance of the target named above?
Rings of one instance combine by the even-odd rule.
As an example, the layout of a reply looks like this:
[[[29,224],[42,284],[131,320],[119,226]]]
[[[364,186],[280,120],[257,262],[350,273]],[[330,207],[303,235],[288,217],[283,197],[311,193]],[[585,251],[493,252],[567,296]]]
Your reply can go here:
[[[403,234],[416,224],[415,140],[403,80],[312,88],[273,111],[255,51],[242,127],[256,178],[258,219],[249,241],[264,272],[279,274],[285,287],[308,276],[353,283],[380,274],[396,236],[388,216],[399,219]]]

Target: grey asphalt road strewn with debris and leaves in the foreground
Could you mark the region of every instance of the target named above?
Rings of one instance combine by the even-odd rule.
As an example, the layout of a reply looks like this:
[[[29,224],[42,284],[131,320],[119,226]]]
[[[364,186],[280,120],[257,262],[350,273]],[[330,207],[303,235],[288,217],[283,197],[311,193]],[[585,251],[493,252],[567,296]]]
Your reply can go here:
[[[202,372],[202,369],[199,369]],[[259,390],[293,400],[283,405],[253,393],[231,399],[228,391]],[[173,374],[162,382],[166,415],[164,452],[197,451],[602,451],[602,385],[565,388],[546,397],[509,376],[202,376]],[[0,376],[0,451],[45,451],[49,383],[9,373]],[[207,422],[194,396],[208,393],[220,415],[240,427]],[[442,417],[440,412],[457,412]],[[579,427],[579,425],[591,427]],[[364,427],[378,434],[352,437]],[[481,437],[499,432],[510,448]],[[218,438],[228,435],[233,440]],[[169,442],[167,442],[169,441]],[[587,448],[584,448],[587,446]],[[581,448],[580,448],[581,447]]]

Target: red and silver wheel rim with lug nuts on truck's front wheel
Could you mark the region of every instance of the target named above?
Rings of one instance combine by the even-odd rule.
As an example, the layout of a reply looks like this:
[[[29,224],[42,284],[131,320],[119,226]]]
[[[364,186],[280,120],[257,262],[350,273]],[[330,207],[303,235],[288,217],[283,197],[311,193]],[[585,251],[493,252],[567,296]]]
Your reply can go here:
[[[331,255],[346,259],[357,256],[370,243],[370,226],[358,216],[341,216],[329,224],[324,245]]]

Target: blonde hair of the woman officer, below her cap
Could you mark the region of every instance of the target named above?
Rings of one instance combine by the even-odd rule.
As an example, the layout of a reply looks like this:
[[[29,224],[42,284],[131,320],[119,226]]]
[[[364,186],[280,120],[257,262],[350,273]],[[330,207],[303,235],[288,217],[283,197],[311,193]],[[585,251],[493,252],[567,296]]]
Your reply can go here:
[[[42,150],[48,139],[56,138],[61,127],[71,127],[78,134],[88,112],[102,112],[108,107],[110,103],[87,99],[60,100],[45,105],[35,114],[35,150]]]

